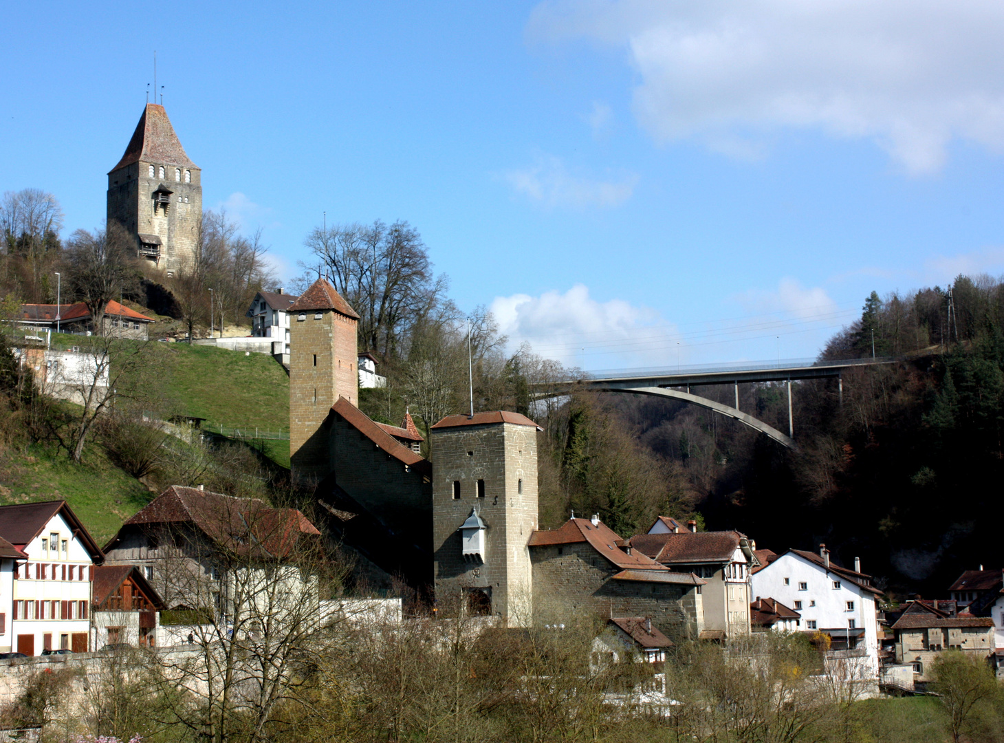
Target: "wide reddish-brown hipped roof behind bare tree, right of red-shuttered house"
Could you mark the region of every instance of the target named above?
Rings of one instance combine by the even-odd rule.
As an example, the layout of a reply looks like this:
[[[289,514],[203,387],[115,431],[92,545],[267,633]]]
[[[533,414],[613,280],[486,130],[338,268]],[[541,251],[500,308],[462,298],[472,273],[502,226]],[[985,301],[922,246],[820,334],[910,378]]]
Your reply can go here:
[[[317,528],[294,508],[270,508],[257,498],[236,498],[198,488],[172,485],[124,526],[191,523],[218,544],[265,550],[267,556],[287,556],[300,537],[318,536]],[[118,540],[116,534],[105,549]]]

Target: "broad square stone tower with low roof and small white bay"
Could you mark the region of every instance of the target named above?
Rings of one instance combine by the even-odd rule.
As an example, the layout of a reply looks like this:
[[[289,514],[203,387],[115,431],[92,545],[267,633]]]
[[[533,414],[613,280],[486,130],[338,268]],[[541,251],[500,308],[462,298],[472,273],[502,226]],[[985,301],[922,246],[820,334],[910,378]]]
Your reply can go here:
[[[527,542],[537,528],[537,425],[516,413],[448,416],[433,426],[436,598],[528,627]]]

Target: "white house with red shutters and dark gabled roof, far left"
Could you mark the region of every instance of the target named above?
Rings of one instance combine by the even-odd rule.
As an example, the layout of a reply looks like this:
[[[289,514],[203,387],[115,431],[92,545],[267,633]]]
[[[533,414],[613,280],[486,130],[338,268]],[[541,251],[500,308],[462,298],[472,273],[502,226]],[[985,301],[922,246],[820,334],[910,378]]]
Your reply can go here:
[[[66,501],[0,506],[0,536],[25,555],[3,607],[13,650],[89,650],[91,568],[104,556]]]

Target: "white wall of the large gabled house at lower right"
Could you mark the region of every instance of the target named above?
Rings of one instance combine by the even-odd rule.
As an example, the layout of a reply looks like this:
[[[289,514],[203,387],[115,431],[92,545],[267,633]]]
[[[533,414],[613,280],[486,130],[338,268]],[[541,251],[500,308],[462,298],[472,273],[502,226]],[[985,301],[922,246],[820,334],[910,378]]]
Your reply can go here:
[[[834,581],[840,587],[835,588]],[[869,666],[874,674],[878,673],[878,624],[873,593],[793,552],[786,552],[754,573],[752,587],[754,599],[775,598],[798,611],[802,616],[799,628],[802,632],[813,632],[815,623],[815,630],[826,631],[837,639],[840,631],[853,621],[854,629],[864,631]],[[848,601],[853,602],[853,608],[847,607]]]

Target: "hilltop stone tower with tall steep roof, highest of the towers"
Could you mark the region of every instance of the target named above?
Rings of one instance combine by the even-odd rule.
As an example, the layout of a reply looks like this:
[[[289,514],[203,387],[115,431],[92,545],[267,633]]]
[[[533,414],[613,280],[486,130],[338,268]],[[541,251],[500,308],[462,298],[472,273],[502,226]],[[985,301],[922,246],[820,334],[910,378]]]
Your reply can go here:
[[[192,264],[201,223],[202,171],[185,154],[164,106],[147,103],[108,173],[108,229],[123,228],[138,255],[170,276]]]

